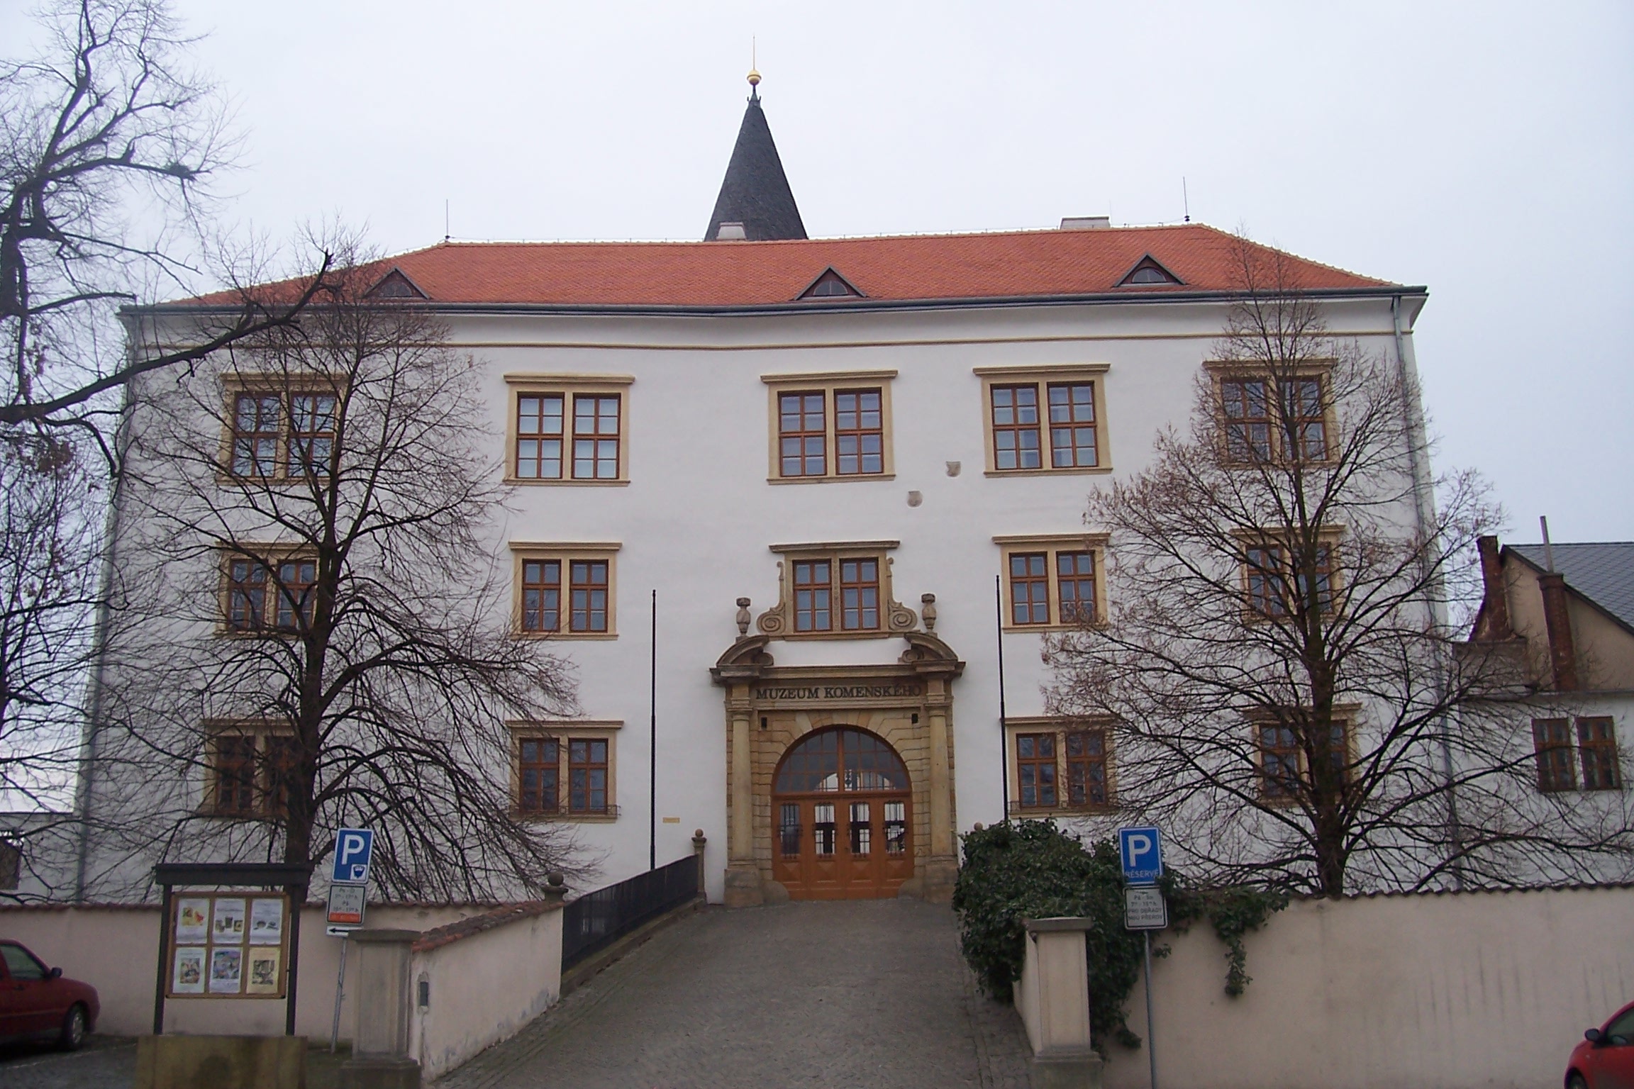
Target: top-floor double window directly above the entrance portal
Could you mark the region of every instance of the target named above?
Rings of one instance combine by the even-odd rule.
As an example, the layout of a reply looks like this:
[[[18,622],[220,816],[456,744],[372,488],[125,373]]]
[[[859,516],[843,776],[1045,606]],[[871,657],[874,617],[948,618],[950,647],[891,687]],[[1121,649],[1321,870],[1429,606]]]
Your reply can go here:
[[[886,393],[876,389],[779,390],[778,477],[886,472]]]

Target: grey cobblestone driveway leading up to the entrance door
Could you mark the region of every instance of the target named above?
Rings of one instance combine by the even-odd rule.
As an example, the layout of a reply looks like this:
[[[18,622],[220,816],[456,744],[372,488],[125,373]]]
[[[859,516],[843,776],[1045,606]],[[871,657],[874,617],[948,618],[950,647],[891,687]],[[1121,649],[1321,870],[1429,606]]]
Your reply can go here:
[[[910,900],[712,908],[436,1089],[1026,1089],[1020,1020],[958,942]]]

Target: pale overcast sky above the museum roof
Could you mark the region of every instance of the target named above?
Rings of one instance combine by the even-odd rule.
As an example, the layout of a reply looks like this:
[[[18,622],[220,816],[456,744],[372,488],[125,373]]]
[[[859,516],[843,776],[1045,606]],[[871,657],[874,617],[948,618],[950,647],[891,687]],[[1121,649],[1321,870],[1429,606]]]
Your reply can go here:
[[[0,7],[0,39],[25,33]],[[1634,3],[178,0],[235,217],[698,238],[758,38],[812,235],[1193,219],[1428,284],[1440,467],[1634,539]],[[10,52],[10,49],[7,51]]]

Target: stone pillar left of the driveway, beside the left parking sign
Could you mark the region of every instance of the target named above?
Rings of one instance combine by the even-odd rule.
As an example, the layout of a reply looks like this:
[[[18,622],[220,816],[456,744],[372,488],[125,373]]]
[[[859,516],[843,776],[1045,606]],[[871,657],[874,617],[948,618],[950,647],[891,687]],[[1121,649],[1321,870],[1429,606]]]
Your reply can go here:
[[[351,1058],[342,1089],[420,1089],[420,1063],[408,1056],[408,958],[420,931],[353,931],[358,983]]]

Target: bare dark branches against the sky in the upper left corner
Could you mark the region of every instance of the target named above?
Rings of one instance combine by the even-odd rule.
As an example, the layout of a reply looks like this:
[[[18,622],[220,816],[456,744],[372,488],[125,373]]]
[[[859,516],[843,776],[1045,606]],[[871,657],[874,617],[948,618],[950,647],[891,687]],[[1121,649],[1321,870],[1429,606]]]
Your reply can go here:
[[[121,305],[196,289],[211,183],[237,147],[163,0],[57,0],[44,18],[44,52],[0,64],[0,434],[78,424],[100,438],[116,410],[103,393],[288,325],[328,255],[292,292],[224,292],[183,348],[126,351]]]

